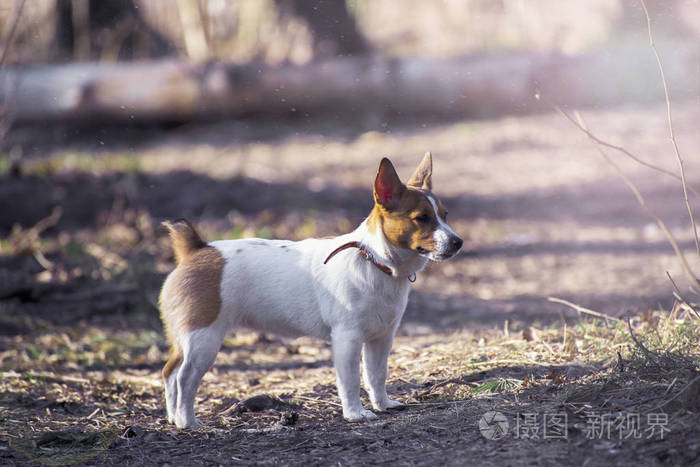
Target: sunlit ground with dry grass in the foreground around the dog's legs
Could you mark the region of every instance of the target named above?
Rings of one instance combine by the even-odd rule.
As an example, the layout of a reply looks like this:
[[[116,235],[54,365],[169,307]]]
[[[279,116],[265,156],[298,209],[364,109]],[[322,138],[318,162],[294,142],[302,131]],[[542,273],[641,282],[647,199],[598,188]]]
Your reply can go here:
[[[583,316],[521,331],[400,337],[390,358],[389,388],[407,408],[367,424],[341,420],[325,343],[240,333],[226,341],[200,389],[197,410],[206,426],[176,431],[163,421],[158,371],[166,349],[157,333],[25,320],[32,333],[2,341],[0,437],[8,444],[0,456],[15,452],[21,454],[16,460],[54,465],[95,456],[107,465],[140,456],[149,463],[206,464],[273,462],[289,451],[288,460],[315,464],[347,459],[330,449],[342,441],[363,462],[373,458],[362,454],[369,440],[383,443],[378,433],[423,443],[426,430],[444,439],[473,435],[487,409],[513,416],[568,413],[569,436],[586,449],[598,440],[576,431],[584,411],[643,414],[671,407],[666,440],[685,439],[698,401],[682,395],[698,374],[700,322],[679,305],[630,323],[634,334],[625,324]],[[236,405],[260,394],[278,402],[261,412]],[[199,449],[224,440],[230,444],[219,455]],[[524,448],[518,442],[524,441],[504,441],[507,455]],[[550,448],[543,455],[557,459],[563,447]]]

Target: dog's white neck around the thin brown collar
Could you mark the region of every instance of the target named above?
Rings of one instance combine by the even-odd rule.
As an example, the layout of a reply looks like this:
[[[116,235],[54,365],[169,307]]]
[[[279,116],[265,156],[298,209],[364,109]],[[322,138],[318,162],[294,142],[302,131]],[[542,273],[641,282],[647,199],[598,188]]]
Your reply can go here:
[[[392,245],[381,228],[370,231],[368,220],[369,217],[351,234],[353,240],[360,242],[376,260],[388,266],[394,277],[406,279],[423,270],[427,258],[415,251]]]

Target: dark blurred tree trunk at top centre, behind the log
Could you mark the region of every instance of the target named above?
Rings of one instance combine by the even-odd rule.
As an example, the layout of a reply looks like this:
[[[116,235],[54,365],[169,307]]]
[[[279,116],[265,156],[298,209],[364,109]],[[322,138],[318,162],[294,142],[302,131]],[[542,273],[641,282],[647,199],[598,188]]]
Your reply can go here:
[[[282,12],[306,22],[314,41],[314,57],[362,55],[370,46],[357,29],[345,0],[276,0]]]

